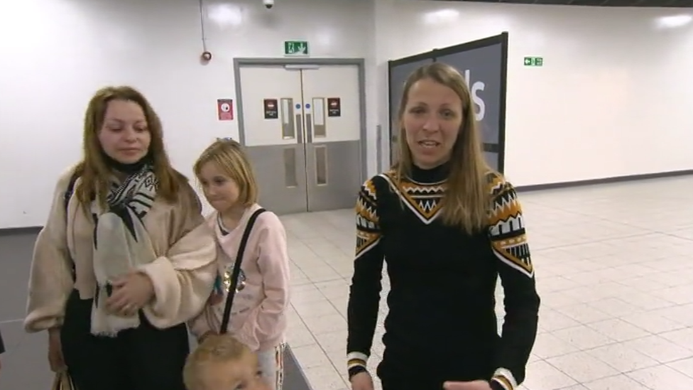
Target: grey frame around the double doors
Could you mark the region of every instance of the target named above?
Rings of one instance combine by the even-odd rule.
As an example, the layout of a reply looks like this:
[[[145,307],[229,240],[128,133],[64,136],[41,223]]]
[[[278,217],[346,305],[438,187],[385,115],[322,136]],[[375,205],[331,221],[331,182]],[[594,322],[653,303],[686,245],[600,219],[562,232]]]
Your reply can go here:
[[[359,131],[361,139],[361,180],[366,180],[368,175],[368,153],[367,140],[368,129],[366,121],[366,60],[364,58],[234,58],[234,80],[236,81],[236,109],[238,111],[239,124],[239,142],[241,145],[246,145],[245,122],[243,117],[243,88],[241,87],[241,67],[258,67],[258,66],[284,66],[284,65],[317,65],[318,67],[327,67],[334,65],[351,65],[356,66],[359,70],[359,111],[361,117],[359,123],[361,129]]]

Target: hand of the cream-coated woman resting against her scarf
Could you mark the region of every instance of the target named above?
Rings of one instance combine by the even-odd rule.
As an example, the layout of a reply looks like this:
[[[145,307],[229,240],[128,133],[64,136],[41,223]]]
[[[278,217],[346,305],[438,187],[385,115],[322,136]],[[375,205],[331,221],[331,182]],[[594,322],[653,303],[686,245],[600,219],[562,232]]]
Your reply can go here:
[[[154,285],[145,273],[131,272],[111,282],[113,293],[106,301],[111,313],[136,315],[154,297]]]

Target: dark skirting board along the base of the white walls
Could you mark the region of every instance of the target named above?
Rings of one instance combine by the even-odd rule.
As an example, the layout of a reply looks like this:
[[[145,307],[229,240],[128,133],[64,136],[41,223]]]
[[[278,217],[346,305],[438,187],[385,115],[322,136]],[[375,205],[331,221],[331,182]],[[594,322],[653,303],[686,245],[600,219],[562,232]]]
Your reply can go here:
[[[562,189],[562,188],[583,187],[585,185],[613,184],[613,183],[623,183],[623,182],[627,182],[627,181],[637,181],[637,180],[675,178],[677,176],[686,176],[686,175],[693,175],[693,169],[674,170],[671,172],[660,172],[660,173],[644,173],[642,175],[616,176],[614,178],[567,181],[567,182],[562,182],[562,183],[518,185],[517,187],[515,187],[515,189],[518,190],[518,192],[525,193],[525,192],[529,192],[529,191],[557,190],[557,189]],[[38,233],[40,229],[41,229],[40,226],[38,226],[38,227],[13,227],[13,228],[9,228],[9,229],[0,229],[0,234],[3,236],[11,236],[13,234],[27,234],[27,233],[31,233],[31,232]]]

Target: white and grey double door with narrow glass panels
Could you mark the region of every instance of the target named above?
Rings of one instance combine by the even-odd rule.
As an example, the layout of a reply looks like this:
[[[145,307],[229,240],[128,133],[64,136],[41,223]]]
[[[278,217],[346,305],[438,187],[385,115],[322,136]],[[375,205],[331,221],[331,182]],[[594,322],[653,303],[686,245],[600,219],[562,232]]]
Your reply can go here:
[[[354,207],[361,177],[356,65],[242,66],[241,134],[278,214]]]

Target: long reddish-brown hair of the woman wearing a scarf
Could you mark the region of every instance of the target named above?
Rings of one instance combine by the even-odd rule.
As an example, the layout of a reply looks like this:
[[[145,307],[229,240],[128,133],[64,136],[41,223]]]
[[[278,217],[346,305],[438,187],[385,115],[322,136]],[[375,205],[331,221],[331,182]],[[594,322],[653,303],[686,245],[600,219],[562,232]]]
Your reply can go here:
[[[99,143],[99,131],[104,126],[109,103],[114,100],[138,104],[147,120],[147,130],[151,136],[148,157],[151,158],[154,173],[158,180],[157,195],[169,202],[178,200],[178,191],[187,183],[182,173],[173,169],[163,143],[163,126],[156,112],[141,92],[133,87],[104,87],[97,91],[84,114],[82,145],[84,158],[77,164],[75,175],[82,178],[75,188],[75,195],[82,205],[88,205],[95,197],[99,204],[106,204],[109,193],[110,169],[104,159],[103,148]]]

